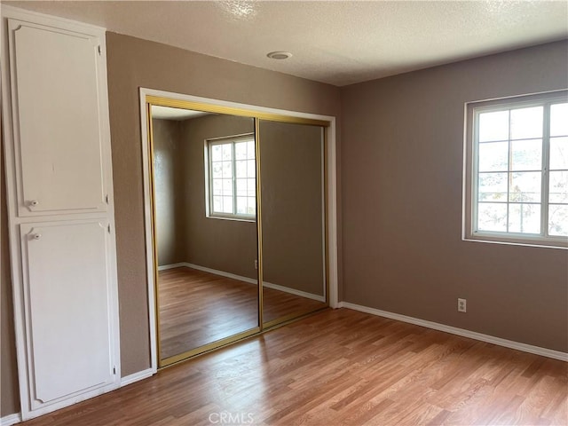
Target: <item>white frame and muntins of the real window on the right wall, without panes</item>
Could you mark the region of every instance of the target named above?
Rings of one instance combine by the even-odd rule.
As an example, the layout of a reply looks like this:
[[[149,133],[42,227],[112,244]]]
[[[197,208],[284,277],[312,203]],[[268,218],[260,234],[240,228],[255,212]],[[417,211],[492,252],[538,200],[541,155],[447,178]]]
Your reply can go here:
[[[568,102],[568,90],[550,91],[503,99],[468,102],[465,104],[463,226],[464,241],[484,241],[501,244],[530,245],[548,248],[568,248],[568,237],[548,235],[548,183],[550,153],[550,106]],[[479,114],[506,111],[530,106],[543,106],[542,165],[540,167],[540,233],[510,233],[479,231],[477,227],[477,191],[479,164]],[[509,135],[509,144],[511,143]],[[510,167],[509,167],[510,169]],[[508,170],[510,173],[511,170]],[[509,196],[506,204],[509,205]],[[555,204],[555,203],[552,203]],[[509,220],[509,215],[508,215]]]

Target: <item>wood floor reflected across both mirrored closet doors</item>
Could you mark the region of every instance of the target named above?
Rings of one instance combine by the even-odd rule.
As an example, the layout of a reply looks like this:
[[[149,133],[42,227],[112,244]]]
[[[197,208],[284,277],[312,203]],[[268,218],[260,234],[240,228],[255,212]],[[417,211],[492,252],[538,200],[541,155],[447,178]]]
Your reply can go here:
[[[258,325],[256,285],[180,267],[158,275],[162,359]],[[264,288],[264,320],[325,307],[318,301]]]

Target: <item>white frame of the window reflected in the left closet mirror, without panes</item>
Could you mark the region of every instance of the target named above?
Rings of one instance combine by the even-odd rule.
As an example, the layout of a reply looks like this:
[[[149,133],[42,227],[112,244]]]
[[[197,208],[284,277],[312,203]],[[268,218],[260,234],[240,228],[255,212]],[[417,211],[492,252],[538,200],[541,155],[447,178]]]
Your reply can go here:
[[[252,141],[255,144],[255,162],[256,162],[256,138],[254,132],[243,133],[240,135],[233,135],[221,138],[208,138],[204,141],[204,162],[205,162],[205,217],[212,219],[225,219],[225,220],[236,220],[241,222],[256,222],[256,174],[255,174],[255,213],[252,215],[243,215],[237,213],[237,193],[236,185],[237,178],[236,173],[236,156],[234,146],[236,143],[247,141]],[[213,170],[212,170],[212,154],[211,147],[216,145],[227,145],[231,144],[233,149],[232,162],[233,162],[233,212],[234,213],[219,213],[215,212],[213,209]],[[255,170],[256,171],[256,170]]]

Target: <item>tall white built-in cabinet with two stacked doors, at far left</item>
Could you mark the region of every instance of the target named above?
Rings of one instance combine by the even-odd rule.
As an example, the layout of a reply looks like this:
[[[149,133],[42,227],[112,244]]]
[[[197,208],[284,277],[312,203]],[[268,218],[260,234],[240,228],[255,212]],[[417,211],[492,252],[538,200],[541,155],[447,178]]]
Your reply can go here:
[[[105,30],[3,6],[23,419],[120,383]]]

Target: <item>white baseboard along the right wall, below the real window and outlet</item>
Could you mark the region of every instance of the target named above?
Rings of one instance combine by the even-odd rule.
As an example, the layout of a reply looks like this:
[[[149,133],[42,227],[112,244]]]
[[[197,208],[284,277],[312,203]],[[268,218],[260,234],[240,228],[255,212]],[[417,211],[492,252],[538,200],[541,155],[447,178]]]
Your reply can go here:
[[[353,311],[366,312],[372,315],[377,315],[379,317],[397,319],[398,321],[408,322],[416,326],[432,328],[434,330],[444,331],[453,335],[461,335],[463,337],[469,337],[470,339],[480,340],[481,342],[493,343],[499,346],[504,346],[506,348],[516,349],[517,351],[524,351],[534,353],[535,355],[541,355],[547,358],[568,361],[568,353],[566,352],[541,348],[540,346],[533,346],[532,344],[514,342],[512,340],[501,339],[501,337],[495,337],[493,335],[484,335],[482,333],[469,331],[463,328],[446,326],[445,324],[439,324],[438,322],[427,321],[425,319],[418,319],[414,317],[407,317],[406,315],[401,315],[399,313],[381,311],[379,309],[369,308],[367,306],[361,306],[359,304],[350,304],[349,302],[340,302],[338,304],[338,307],[352,309]]]

